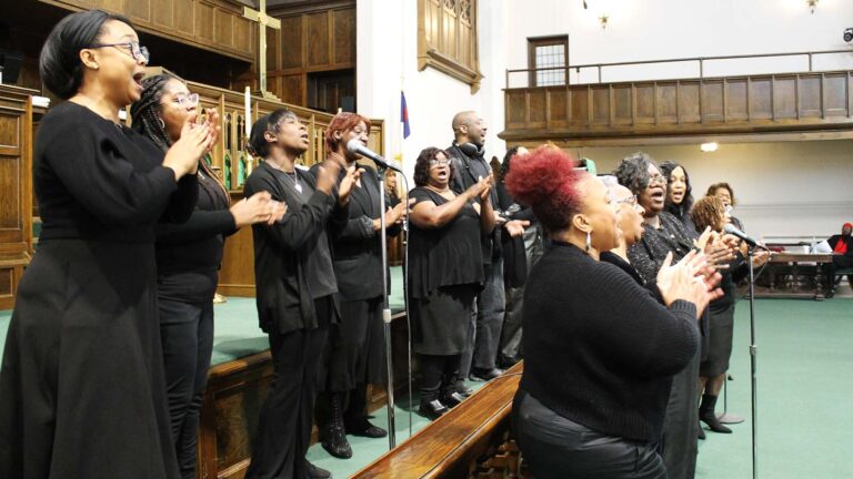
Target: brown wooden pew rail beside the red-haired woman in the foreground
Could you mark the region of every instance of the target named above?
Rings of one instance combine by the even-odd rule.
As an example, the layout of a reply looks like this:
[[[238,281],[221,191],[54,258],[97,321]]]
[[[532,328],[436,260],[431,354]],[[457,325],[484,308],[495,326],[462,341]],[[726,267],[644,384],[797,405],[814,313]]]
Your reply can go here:
[[[518,477],[509,438],[523,361],[359,472],[358,479]]]

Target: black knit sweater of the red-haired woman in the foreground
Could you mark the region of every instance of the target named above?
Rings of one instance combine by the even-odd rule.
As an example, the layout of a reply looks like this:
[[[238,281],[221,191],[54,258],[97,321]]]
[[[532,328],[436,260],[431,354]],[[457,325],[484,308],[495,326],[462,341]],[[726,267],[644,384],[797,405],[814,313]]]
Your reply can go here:
[[[699,347],[696,308],[666,309],[619,267],[554,242],[524,293],[521,388],[596,431],[659,441],[672,376]]]

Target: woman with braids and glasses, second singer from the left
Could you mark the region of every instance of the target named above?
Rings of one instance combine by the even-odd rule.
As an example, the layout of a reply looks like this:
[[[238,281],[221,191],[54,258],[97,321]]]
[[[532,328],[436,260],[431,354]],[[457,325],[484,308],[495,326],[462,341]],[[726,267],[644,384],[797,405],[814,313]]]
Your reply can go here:
[[[175,77],[142,81],[142,95],[130,109],[134,131],[167,151],[195,123],[199,95]],[[282,203],[261,192],[231,206],[231,197],[205,159],[198,162],[199,200],[185,223],[157,227],[157,294],[172,438],[181,475],[195,477],[199,412],[213,350],[213,294],[224,240],[241,226],[271,224]]]

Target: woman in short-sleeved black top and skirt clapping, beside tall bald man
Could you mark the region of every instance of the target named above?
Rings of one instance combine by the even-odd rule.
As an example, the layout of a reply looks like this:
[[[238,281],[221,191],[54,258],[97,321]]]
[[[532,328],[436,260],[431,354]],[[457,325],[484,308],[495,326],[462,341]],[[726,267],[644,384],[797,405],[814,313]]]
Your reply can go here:
[[[435,419],[464,397],[456,393],[474,298],[483,284],[480,235],[494,228],[491,176],[462,194],[450,190],[453,165],[428,147],[414,164],[409,215],[409,310],[421,366],[419,414]]]

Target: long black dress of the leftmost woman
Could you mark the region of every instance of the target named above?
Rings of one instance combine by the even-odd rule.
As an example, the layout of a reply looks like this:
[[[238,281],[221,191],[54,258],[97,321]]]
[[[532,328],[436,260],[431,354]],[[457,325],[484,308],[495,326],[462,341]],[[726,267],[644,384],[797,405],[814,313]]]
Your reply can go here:
[[[91,110],[44,116],[43,222],[0,373],[0,477],[175,478],[157,313],[154,225],[185,221],[195,176]]]

